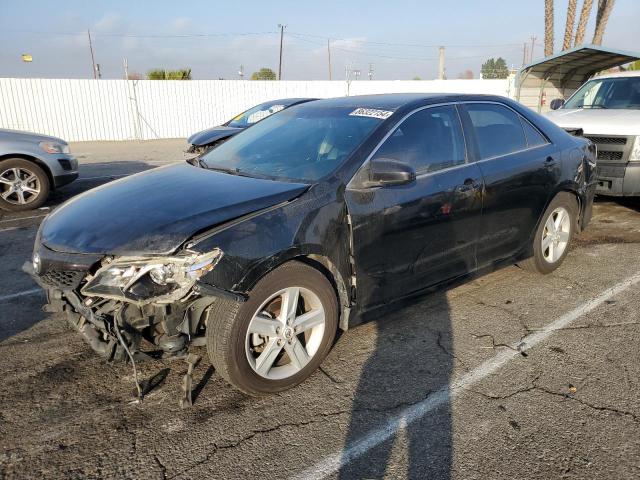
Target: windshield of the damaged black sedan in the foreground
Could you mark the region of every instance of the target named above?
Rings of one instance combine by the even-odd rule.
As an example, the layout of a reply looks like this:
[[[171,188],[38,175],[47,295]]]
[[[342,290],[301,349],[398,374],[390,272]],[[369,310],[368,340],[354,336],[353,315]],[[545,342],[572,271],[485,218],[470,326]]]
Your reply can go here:
[[[288,108],[205,154],[201,163],[239,175],[314,182],[342,165],[383,122],[360,110],[315,103]]]

